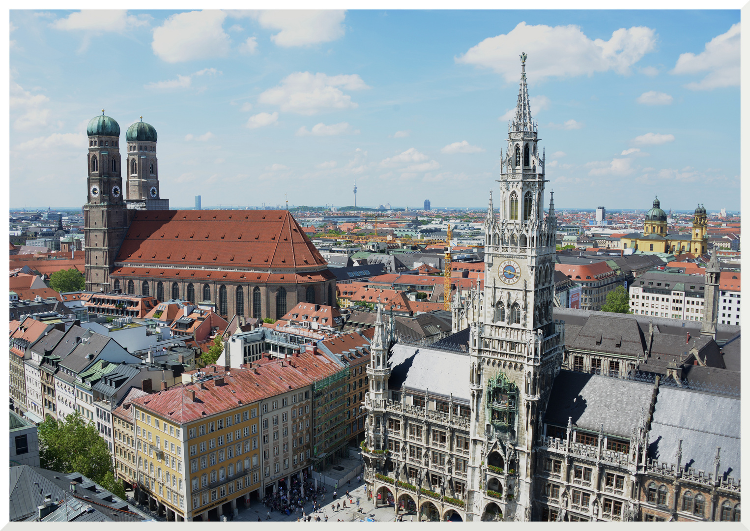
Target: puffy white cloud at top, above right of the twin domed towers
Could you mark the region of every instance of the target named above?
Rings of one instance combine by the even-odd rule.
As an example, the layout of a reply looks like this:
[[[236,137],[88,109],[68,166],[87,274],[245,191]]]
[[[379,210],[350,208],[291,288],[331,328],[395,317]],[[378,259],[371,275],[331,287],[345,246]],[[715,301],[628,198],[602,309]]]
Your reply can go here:
[[[168,63],[223,57],[229,53],[229,35],[221,27],[225,18],[219,10],[172,15],[154,28],[151,49]]]

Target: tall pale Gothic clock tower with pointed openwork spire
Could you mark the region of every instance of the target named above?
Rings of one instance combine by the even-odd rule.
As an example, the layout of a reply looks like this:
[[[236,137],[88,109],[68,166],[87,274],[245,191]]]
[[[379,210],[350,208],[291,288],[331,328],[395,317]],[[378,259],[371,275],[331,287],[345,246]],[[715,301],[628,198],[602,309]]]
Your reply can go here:
[[[531,520],[533,446],[540,412],[562,362],[563,323],[552,318],[557,220],[544,211],[544,154],[538,151],[520,56],[520,89],[501,155],[499,214],[484,221],[485,281],[481,310],[470,326],[472,453],[466,519],[479,520],[496,502],[504,520]],[[499,481],[502,499],[487,498]]]

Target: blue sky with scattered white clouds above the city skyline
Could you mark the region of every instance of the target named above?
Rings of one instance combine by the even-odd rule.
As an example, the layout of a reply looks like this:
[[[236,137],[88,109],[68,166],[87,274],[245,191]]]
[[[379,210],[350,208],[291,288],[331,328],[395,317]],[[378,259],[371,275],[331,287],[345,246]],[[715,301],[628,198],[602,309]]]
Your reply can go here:
[[[10,205],[86,200],[142,115],[193,205],[475,207],[526,52],[561,208],[739,209],[739,10],[10,12]],[[31,193],[29,190],[33,190]]]

